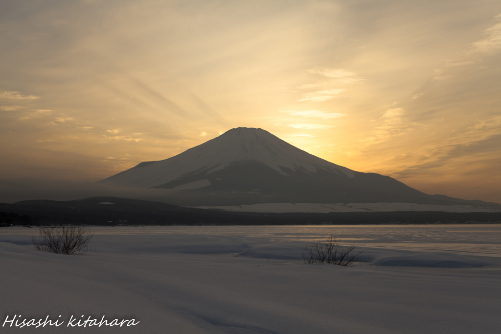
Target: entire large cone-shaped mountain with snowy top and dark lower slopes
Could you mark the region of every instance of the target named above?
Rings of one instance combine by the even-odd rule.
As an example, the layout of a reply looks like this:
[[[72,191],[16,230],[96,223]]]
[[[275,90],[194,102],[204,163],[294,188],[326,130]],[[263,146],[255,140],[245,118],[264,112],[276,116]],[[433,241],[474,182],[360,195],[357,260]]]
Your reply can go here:
[[[100,181],[171,189],[190,205],[257,203],[485,204],[428,195],[387,176],[360,173],[261,128],[238,127],[178,155],[145,161]]]

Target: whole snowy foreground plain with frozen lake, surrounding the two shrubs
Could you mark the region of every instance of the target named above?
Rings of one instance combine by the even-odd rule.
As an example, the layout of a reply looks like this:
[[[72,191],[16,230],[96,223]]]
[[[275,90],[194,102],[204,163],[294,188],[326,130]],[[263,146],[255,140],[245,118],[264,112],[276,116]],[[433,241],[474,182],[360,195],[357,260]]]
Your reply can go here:
[[[501,328],[501,225],[95,231],[93,252],[71,256],[31,249],[36,228],[0,229],[0,325],[15,314],[65,321],[4,326],[2,333],[483,334]],[[366,262],[304,264],[311,237],[330,232],[355,242]],[[415,244],[422,250],[409,248]],[[453,246],[437,250],[441,245]],[[67,327],[71,315],[140,322]]]

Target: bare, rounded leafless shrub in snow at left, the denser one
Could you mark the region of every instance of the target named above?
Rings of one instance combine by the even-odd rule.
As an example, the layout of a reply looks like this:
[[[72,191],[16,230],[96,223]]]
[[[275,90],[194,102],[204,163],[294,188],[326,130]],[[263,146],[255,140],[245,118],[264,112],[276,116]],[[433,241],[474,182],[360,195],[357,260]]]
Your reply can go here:
[[[41,227],[40,236],[32,235],[35,249],[56,254],[83,254],[90,250],[94,232],[84,226]]]

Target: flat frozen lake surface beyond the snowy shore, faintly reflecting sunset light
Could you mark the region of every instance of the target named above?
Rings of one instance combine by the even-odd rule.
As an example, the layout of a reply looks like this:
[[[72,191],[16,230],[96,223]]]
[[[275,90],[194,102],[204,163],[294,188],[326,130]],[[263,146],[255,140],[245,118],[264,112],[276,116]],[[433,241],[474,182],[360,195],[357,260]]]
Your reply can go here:
[[[93,227],[98,235],[216,235],[270,241],[311,241],[333,233],[358,247],[446,250],[501,256],[501,224],[451,225],[294,225],[294,226],[114,226]],[[2,236],[37,234],[37,228],[4,228]]]

